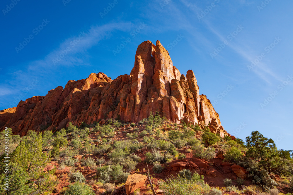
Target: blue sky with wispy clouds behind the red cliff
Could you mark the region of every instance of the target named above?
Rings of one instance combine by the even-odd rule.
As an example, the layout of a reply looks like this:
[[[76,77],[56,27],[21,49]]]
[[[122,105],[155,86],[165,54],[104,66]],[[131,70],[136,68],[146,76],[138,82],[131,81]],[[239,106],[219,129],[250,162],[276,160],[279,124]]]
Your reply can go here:
[[[278,148],[292,149],[292,6],[289,0],[3,0],[0,110],[93,72],[112,79],[129,74],[137,46],[160,40],[182,74],[194,71],[225,130],[241,139],[258,130]]]

